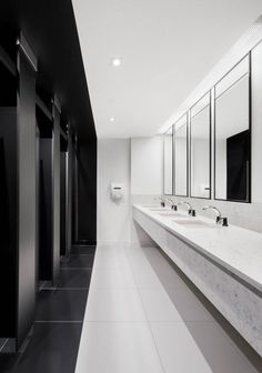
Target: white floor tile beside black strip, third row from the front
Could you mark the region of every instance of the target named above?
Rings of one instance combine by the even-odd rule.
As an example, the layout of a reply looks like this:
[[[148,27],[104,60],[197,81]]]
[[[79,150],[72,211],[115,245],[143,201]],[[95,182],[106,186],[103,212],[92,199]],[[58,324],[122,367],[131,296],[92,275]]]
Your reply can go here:
[[[131,270],[120,269],[93,269],[92,289],[135,289]]]

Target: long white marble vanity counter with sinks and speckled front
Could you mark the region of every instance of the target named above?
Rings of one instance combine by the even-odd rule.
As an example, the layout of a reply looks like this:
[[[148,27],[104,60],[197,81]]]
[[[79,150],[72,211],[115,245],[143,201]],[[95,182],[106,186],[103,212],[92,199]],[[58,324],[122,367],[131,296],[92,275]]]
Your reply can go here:
[[[133,205],[134,221],[262,356],[262,234]]]

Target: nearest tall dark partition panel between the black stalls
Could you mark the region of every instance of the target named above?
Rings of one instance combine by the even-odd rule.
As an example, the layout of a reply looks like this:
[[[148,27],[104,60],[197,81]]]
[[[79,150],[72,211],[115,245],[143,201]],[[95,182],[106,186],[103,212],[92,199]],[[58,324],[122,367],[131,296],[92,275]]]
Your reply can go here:
[[[27,336],[36,306],[37,149],[36,77],[22,52],[18,53],[18,315],[17,346]]]

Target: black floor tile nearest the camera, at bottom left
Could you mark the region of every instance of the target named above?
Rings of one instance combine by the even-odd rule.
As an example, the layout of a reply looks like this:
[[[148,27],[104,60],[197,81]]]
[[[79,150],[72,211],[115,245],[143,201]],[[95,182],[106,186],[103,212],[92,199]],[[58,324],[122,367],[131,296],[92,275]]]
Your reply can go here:
[[[81,323],[34,324],[27,350],[0,357],[0,372],[73,373],[81,336]]]

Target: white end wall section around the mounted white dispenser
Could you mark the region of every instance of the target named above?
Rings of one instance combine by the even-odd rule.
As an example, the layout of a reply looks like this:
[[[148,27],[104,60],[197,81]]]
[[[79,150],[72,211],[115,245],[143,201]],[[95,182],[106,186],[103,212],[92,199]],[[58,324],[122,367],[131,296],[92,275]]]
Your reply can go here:
[[[110,198],[111,182],[124,184],[124,199]],[[98,141],[98,242],[130,241],[130,140]]]

